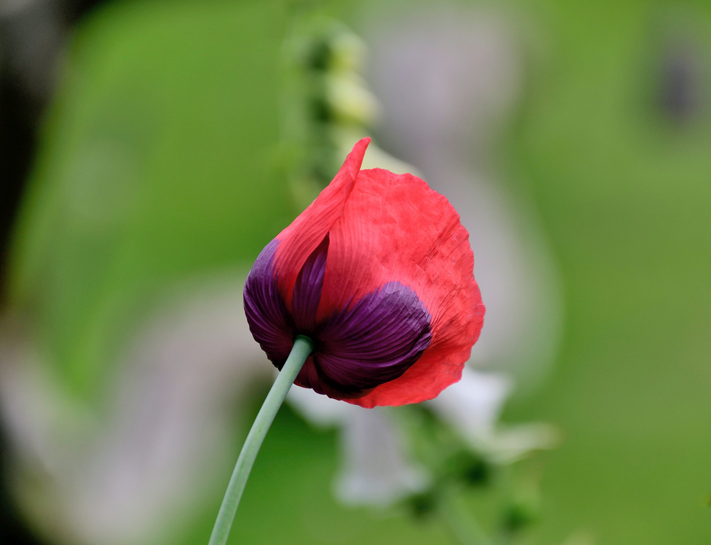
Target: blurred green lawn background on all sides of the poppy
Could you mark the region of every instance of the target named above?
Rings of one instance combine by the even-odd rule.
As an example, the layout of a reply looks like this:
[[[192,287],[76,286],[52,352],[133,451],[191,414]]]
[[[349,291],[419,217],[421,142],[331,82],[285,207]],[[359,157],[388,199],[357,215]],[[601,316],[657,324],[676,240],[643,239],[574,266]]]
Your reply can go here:
[[[323,9],[358,31],[377,5]],[[550,377],[504,414],[564,437],[542,458],[532,539],[706,544],[711,4],[481,6],[518,14],[535,43],[496,162],[533,195],[565,295]],[[298,212],[279,162],[293,9],[124,0],[75,27],[16,219],[6,308],[29,317],[56,376],[98,411],[112,351],[163,286],[249,267]],[[692,91],[665,83],[670,40],[693,53]],[[101,193],[96,176],[121,190]],[[338,506],[335,466],[335,434],[282,409],[230,543],[448,542],[436,524]],[[219,501],[173,542],[205,542]]]

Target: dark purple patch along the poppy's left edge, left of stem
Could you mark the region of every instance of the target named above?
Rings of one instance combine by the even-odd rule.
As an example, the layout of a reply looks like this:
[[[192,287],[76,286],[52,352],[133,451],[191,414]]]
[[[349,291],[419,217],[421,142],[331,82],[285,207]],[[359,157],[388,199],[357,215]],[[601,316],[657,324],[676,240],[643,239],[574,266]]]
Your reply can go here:
[[[277,239],[260,252],[245,281],[245,315],[252,337],[277,369],[282,369],[294,346],[294,323],[287,312],[274,274]]]

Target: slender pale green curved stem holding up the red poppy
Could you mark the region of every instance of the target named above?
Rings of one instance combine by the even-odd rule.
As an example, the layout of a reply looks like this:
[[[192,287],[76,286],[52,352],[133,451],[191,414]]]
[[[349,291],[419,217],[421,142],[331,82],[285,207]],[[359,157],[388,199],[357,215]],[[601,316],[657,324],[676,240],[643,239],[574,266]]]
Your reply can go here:
[[[304,362],[306,362],[306,358],[309,357],[312,350],[314,350],[314,342],[308,337],[299,335],[294,339],[292,352],[289,354],[287,362],[284,363],[282,371],[279,372],[279,376],[272,384],[272,389],[269,390],[267,399],[264,399],[262,409],[257,414],[255,423],[252,424],[252,429],[250,429],[250,433],[245,439],[245,444],[242,446],[240,457],[237,458],[237,465],[235,465],[235,470],[232,471],[230,484],[228,484],[225,498],[222,505],[220,505],[218,519],[215,521],[215,527],[213,527],[213,533],[210,535],[208,545],[224,545],[227,542],[232,520],[237,512],[237,505],[240,504],[242,492],[247,484],[247,477],[250,476],[252,465],[255,463],[257,453],[260,451],[264,436],[267,435],[269,426],[274,421],[274,416],[277,415],[277,411],[282,406],[289,388],[292,387],[296,375],[301,371],[301,367],[304,367]]]

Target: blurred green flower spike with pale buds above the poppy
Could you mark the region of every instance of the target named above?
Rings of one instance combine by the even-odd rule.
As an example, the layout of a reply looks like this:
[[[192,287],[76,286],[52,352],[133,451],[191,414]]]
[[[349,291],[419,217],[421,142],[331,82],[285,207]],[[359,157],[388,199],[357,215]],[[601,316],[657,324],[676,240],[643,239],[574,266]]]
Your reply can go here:
[[[353,144],[370,136],[383,108],[363,77],[367,48],[342,21],[307,10],[282,48],[281,149],[296,204],[306,208],[338,171]],[[374,143],[363,168],[413,173]]]

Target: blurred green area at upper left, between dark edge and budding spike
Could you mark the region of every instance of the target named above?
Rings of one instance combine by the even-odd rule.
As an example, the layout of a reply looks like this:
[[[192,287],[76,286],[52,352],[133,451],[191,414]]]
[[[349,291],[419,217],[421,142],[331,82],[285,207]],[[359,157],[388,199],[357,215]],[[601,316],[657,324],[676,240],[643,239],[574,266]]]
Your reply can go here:
[[[75,37],[17,228],[11,305],[99,403],[176,282],[248,269],[297,210],[274,164],[277,1],[129,2]]]

